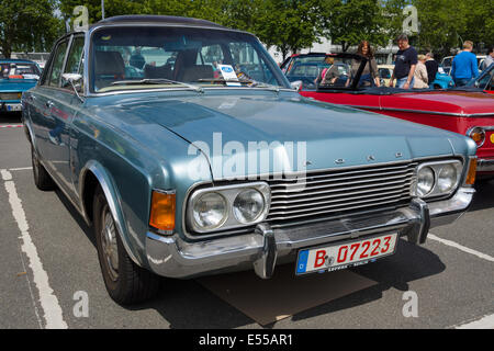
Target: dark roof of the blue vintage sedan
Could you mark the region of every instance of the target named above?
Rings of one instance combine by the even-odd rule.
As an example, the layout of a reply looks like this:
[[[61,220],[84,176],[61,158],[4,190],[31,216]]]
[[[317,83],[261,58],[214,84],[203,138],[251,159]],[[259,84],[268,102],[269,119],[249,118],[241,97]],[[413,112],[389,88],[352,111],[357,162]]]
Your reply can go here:
[[[156,15],[156,14],[115,15],[112,18],[101,20],[92,24],[91,26],[99,26],[101,24],[136,24],[136,23],[226,29],[223,25],[206,20],[182,18],[176,15]]]

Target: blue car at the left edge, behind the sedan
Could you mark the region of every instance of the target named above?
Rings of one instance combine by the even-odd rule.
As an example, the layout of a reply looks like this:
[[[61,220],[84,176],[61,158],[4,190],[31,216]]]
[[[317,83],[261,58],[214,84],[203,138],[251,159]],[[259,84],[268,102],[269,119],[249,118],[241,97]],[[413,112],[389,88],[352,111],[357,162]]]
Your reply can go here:
[[[0,112],[19,112],[22,93],[40,79],[36,63],[24,59],[0,59]]]

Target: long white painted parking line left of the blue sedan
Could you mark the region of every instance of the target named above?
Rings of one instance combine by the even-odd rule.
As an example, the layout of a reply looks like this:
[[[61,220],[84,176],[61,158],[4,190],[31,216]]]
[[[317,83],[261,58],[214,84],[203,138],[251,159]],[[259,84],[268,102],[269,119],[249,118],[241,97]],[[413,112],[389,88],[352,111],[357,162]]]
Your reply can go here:
[[[7,193],[9,194],[10,206],[15,218],[19,229],[21,230],[22,251],[27,256],[29,267],[33,271],[34,283],[40,292],[40,303],[44,312],[44,318],[47,329],[67,329],[68,326],[64,320],[61,307],[58,304],[57,297],[53,293],[53,288],[48,283],[48,274],[43,269],[43,263],[37,254],[36,247],[29,234],[29,225],[22,208],[21,199],[19,199],[15,183],[12,180],[12,174],[2,169],[0,174],[4,180]]]

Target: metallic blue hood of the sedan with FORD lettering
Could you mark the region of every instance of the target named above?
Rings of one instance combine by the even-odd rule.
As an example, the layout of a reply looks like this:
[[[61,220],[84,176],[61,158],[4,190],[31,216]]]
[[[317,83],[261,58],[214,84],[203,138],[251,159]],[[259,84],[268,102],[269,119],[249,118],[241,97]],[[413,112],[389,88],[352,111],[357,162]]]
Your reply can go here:
[[[149,95],[98,98],[110,100],[94,113],[164,157],[164,128],[176,134],[202,150],[215,180],[469,152],[460,135],[292,92]]]

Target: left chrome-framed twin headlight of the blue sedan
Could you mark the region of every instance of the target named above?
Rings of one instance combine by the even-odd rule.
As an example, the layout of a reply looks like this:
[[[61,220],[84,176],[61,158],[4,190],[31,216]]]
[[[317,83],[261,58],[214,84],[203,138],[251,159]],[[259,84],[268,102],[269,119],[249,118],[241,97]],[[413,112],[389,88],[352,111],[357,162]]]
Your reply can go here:
[[[265,182],[199,189],[187,202],[187,223],[198,234],[255,225],[268,216],[270,201]]]

